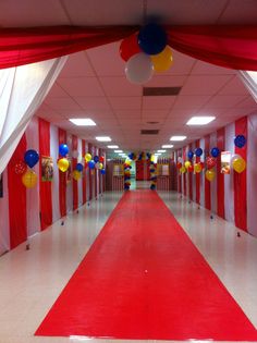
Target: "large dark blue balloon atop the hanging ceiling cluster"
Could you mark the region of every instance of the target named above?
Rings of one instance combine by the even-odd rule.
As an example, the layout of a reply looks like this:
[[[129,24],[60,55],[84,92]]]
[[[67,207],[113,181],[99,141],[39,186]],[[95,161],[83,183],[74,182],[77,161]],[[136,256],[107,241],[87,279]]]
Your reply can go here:
[[[147,24],[139,30],[138,45],[147,54],[160,53],[166,48],[167,41],[167,34],[158,24]]]

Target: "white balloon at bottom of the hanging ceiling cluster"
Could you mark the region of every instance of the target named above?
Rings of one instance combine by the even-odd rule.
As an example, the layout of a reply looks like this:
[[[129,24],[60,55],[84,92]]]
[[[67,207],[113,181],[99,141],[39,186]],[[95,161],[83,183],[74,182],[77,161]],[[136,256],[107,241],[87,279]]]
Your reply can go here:
[[[154,74],[154,65],[148,54],[139,52],[130,58],[125,66],[126,78],[133,84],[144,84]]]

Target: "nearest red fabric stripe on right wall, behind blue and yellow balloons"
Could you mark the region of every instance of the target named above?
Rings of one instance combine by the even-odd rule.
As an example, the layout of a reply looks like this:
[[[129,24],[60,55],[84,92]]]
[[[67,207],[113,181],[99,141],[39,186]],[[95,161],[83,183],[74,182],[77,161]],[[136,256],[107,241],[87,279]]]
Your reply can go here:
[[[235,121],[235,136],[244,135],[247,139],[247,118],[243,117]],[[243,148],[235,146],[235,154],[238,154],[247,166],[247,144]],[[234,171],[234,216],[235,225],[247,231],[247,194],[246,194],[246,169],[242,173]]]

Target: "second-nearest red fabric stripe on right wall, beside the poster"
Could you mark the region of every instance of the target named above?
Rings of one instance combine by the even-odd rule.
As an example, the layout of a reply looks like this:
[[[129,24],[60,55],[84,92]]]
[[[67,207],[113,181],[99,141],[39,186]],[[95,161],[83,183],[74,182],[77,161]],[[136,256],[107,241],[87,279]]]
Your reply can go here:
[[[224,151],[224,127],[217,131],[217,147]],[[217,158],[217,213],[224,219],[224,174],[221,173],[221,154]]]

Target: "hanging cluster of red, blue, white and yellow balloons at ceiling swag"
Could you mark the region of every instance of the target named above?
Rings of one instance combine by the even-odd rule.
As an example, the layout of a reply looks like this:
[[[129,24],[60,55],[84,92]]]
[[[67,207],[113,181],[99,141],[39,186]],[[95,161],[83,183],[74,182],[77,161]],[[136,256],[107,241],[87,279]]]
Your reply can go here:
[[[164,72],[172,65],[172,51],[162,26],[149,23],[138,33],[122,40],[121,58],[126,62],[125,74],[131,83],[144,84],[154,72]]]

